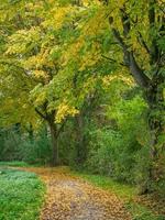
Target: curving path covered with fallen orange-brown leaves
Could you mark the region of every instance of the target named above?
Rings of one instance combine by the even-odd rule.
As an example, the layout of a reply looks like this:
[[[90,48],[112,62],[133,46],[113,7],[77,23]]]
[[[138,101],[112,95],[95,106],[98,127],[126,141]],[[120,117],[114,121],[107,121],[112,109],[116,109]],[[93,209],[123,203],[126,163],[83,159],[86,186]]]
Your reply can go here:
[[[46,184],[41,220],[131,220],[114,195],[73,176],[67,168],[25,168]]]

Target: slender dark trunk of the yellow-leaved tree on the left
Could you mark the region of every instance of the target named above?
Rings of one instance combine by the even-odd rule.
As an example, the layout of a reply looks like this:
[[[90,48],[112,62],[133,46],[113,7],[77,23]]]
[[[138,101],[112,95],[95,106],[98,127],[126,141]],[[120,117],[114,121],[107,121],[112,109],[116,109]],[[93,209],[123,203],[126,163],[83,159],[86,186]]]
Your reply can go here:
[[[55,123],[50,123],[51,139],[52,139],[52,165],[58,165],[58,135],[57,128]]]

